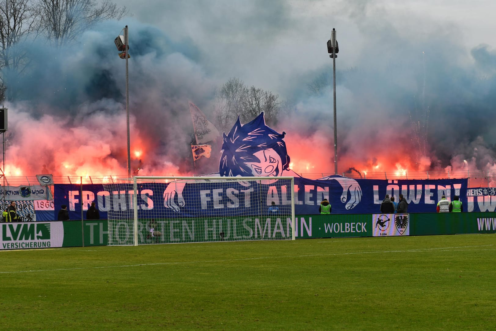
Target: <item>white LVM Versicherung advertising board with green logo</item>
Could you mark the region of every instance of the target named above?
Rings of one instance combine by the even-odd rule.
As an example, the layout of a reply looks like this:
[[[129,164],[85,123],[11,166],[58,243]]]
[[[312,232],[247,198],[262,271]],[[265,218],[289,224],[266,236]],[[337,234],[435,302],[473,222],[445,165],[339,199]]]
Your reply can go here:
[[[3,223],[3,248],[50,247],[50,223]]]

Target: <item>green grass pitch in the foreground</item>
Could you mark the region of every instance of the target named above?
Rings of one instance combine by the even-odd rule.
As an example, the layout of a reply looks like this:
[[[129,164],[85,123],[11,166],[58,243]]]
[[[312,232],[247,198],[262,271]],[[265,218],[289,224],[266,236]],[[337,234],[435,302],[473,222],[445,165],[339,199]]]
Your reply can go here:
[[[2,330],[494,330],[496,234],[2,251]]]

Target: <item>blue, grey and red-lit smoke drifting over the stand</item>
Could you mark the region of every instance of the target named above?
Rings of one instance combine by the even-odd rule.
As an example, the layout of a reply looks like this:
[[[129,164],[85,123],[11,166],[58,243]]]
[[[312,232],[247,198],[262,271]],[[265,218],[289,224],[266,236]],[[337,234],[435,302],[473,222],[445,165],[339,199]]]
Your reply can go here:
[[[333,172],[332,60],[325,47],[332,27],[340,46],[339,172],[496,168],[491,46],[460,39],[453,23],[374,1],[310,3],[271,1],[265,9],[274,20],[260,15],[261,7],[240,4],[229,29],[199,19],[215,17],[211,8],[176,3],[164,10],[162,25],[141,23],[136,12],[125,23],[85,32],[77,45],[30,44],[32,63],[9,85],[13,97],[5,104],[6,175],[35,175],[43,164],[58,176],[126,173],[125,65],[113,43],[125,24],[131,169],[140,175],[218,170],[218,154],[193,167],[188,100],[213,120],[215,88],[230,77],[288,101],[292,113],[274,129],[287,132],[294,171]],[[188,15],[178,15],[186,7]],[[263,24],[250,30],[251,17]]]

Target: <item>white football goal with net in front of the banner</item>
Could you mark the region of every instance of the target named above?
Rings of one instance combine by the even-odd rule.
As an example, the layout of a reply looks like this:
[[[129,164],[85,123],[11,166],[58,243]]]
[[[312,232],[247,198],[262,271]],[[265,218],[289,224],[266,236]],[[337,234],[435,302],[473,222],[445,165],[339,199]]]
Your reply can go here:
[[[134,176],[104,189],[109,245],[295,239],[294,177]]]

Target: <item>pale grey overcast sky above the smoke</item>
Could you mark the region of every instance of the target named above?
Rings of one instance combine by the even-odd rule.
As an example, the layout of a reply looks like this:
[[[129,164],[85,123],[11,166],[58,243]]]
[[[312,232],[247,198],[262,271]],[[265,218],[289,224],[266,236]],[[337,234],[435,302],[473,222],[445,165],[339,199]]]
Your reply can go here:
[[[383,62],[377,58],[390,55],[382,49],[401,47],[387,45],[388,38],[417,44],[411,51],[419,58],[435,52],[430,40],[444,39],[460,47],[454,55],[460,61],[471,61],[470,50],[480,44],[494,50],[496,42],[496,2],[490,0],[116,2],[172,40],[194,45],[212,76],[237,76],[280,93],[294,83],[288,79],[332,65],[325,43],[333,27],[341,52],[338,68],[359,66],[364,57],[370,65]]]

